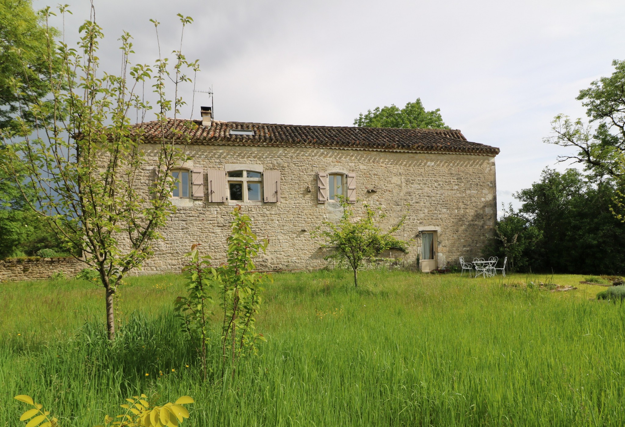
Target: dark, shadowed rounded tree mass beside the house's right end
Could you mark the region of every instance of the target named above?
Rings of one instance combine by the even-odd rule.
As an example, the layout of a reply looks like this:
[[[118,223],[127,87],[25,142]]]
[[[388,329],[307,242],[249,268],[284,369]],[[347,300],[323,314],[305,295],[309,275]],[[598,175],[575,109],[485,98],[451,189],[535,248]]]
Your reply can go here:
[[[521,207],[506,210],[487,253],[509,257],[521,271],[625,273],[625,224],[611,212],[615,194],[610,180],[545,169],[515,194]]]

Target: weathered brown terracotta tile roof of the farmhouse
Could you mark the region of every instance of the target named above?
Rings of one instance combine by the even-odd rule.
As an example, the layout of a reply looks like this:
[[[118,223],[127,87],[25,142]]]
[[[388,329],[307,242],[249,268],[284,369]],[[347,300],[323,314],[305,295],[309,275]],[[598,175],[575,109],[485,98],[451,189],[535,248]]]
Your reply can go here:
[[[137,125],[144,140],[161,137],[158,121]],[[172,137],[174,120],[168,119],[165,137]],[[351,126],[302,126],[266,123],[219,122],[210,127],[199,120],[176,120],[179,131],[189,129],[191,144],[289,147],[331,147],[359,150],[427,151],[497,155],[499,149],[469,142],[460,130],[392,129]],[[254,135],[230,135],[230,130],[254,130]]]

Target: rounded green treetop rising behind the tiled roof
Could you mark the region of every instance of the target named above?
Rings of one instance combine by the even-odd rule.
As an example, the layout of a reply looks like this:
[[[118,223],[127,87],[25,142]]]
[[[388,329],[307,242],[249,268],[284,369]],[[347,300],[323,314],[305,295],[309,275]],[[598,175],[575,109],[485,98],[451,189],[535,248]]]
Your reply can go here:
[[[376,107],[360,114],[354,120],[359,127],[399,127],[404,129],[449,129],[441,117],[441,109],[426,111],[421,98],[408,102],[402,109],[391,104],[390,107]]]

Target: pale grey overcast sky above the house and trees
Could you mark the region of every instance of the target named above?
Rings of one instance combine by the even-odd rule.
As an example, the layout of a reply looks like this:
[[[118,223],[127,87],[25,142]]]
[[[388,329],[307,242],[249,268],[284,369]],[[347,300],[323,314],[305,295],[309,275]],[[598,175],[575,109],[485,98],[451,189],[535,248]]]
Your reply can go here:
[[[89,16],[69,2],[68,40]],[[49,3],[36,0],[39,8]],[[579,89],[625,59],[625,1],[161,1],[95,0],[103,65],[119,69],[116,41],[134,36],[135,62],[178,46],[177,13],[192,16],[183,51],[199,59],[198,90],[215,92],[217,120],[352,125],[359,112],[421,98],[467,139],[501,149],[497,197],[539,179],[564,149],[549,122],[582,117]],[[57,21],[60,24],[60,21]],[[183,96],[191,103],[192,89]],[[197,93],[192,116],[209,104]],[[189,117],[191,110],[184,112]],[[562,165],[556,165],[562,169]]]

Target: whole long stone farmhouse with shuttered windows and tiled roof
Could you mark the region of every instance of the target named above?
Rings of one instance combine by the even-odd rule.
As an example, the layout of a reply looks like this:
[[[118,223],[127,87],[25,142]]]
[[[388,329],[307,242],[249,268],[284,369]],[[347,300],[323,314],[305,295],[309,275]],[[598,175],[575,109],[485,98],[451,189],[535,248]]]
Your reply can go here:
[[[161,132],[171,137],[185,121],[170,119],[165,130],[158,122],[138,125],[146,183]],[[341,216],[338,195],[381,206],[386,225],[407,210],[397,237],[411,241],[409,253],[390,255],[413,264],[419,255],[424,271],[479,255],[493,235],[499,149],[469,142],[460,130],[222,122],[211,119],[210,107],[192,124],[192,160],[173,171],[178,209],[144,272],[179,272],[192,243],[224,260],[234,205],[269,238],[257,266],[270,270],[326,265],[311,231]]]

